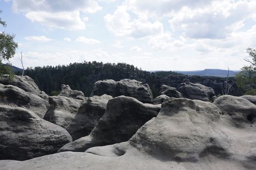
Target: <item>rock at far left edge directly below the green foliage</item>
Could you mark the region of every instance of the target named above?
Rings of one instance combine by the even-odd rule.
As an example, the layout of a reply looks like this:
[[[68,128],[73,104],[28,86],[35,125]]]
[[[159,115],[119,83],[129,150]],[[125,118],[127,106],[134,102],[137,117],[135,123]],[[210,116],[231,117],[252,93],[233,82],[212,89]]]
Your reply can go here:
[[[0,77],[0,84],[3,85],[14,85],[22,90],[38,95],[39,97],[43,99],[47,99],[48,95],[44,93],[43,91],[40,91],[38,86],[35,84],[34,80],[31,79],[28,76],[14,76],[13,81],[9,81],[9,75],[4,74],[2,77]]]

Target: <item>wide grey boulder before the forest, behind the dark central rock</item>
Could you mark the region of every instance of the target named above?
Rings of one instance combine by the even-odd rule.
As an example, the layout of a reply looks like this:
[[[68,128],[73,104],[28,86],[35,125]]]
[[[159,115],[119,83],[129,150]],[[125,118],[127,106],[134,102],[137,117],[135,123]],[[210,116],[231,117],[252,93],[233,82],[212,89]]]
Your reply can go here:
[[[114,80],[98,81],[94,84],[91,96],[101,96],[103,94],[112,97],[128,96],[140,102],[151,103],[153,99],[152,91],[148,84],[143,84],[137,80],[123,79],[118,82]]]

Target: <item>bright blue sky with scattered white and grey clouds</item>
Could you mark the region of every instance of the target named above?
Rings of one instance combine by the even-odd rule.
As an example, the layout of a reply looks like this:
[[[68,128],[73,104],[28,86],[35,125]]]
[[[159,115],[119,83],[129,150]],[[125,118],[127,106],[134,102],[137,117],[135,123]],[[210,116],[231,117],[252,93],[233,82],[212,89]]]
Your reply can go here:
[[[239,70],[256,47],[256,0],[0,0],[12,65],[98,61],[143,70]]]

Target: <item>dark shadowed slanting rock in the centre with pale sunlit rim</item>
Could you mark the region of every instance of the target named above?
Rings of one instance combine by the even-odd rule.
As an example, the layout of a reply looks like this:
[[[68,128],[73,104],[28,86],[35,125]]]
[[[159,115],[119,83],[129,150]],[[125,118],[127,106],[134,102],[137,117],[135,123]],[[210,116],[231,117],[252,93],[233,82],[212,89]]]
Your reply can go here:
[[[159,110],[158,105],[143,104],[131,97],[111,99],[90,135],[63,146],[59,152],[84,152],[91,147],[127,141],[146,121],[156,117]]]

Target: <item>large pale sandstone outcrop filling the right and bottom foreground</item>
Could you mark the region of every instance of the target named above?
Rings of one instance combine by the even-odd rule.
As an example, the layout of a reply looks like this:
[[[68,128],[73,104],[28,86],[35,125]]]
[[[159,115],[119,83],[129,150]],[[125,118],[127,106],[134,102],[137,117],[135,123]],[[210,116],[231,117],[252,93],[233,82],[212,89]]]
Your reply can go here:
[[[63,152],[22,162],[3,160],[0,169],[255,170],[255,132],[255,123],[237,128],[231,117],[222,115],[210,102],[171,98],[128,142],[90,148],[85,153]]]

